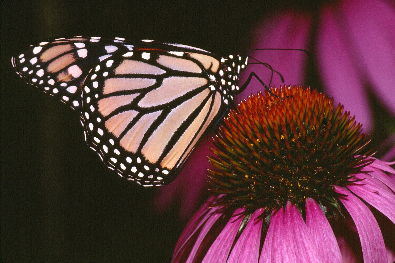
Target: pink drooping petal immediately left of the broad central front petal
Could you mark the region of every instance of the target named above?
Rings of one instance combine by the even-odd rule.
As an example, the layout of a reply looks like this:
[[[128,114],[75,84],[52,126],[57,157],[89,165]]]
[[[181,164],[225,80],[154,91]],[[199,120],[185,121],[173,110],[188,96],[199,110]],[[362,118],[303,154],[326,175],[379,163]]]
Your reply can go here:
[[[262,218],[256,219],[262,213],[261,209],[255,210],[243,233],[237,240],[228,263],[249,263],[259,259],[259,244],[261,241]]]

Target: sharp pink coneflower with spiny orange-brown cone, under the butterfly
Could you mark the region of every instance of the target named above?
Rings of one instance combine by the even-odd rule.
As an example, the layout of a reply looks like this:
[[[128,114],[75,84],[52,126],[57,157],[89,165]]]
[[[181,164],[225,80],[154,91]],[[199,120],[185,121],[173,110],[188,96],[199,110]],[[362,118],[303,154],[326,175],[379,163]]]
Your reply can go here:
[[[224,118],[209,157],[214,195],[173,261],[393,262],[395,170],[371,157],[361,124],[333,99],[271,92]]]

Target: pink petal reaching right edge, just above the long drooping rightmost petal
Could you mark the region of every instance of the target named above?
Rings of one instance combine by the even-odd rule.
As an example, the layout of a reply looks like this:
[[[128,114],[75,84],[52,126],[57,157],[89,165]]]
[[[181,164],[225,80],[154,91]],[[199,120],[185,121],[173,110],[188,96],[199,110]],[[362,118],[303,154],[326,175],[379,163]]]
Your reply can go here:
[[[360,173],[356,179],[365,180],[347,186],[353,193],[361,197],[374,208],[382,212],[395,224],[395,195],[380,180],[369,174]]]

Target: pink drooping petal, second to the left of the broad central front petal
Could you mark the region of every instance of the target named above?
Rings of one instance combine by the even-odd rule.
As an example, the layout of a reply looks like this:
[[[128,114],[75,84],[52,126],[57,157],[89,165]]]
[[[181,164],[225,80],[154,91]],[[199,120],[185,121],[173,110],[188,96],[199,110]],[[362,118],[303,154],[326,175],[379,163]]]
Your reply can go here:
[[[236,216],[243,212],[243,208],[236,209],[233,213],[228,224],[222,229],[221,233],[215,239],[213,244],[211,245],[209,251],[207,251],[205,257],[203,258],[203,263],[222,263],[226,262],[229,256],[230,249],[232,247],[233,241],[235,240],[237,231],[243,221],[243,215]],[[254,262],[251,260],[250,262]],[[258,257],[256,258],[256,262],[258,262]]]

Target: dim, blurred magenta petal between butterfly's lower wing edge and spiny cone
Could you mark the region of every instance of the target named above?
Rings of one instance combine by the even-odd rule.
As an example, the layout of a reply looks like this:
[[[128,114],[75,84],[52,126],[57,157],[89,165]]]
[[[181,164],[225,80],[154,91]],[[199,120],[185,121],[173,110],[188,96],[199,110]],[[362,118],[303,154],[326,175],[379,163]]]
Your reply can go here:
[[[158,189],[152,202],[154,209],[164,212],[176,203],[179,205],[178,217],[185,221],[195,212],[207,188],[207,168],[212,168],[206,158],[212,154],[209,150],[210,146],[213,147],[212,136],[213,133],[205,135],[178,177]]]

